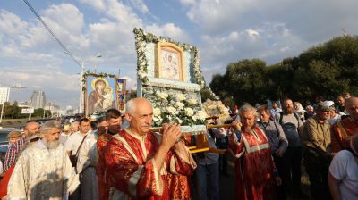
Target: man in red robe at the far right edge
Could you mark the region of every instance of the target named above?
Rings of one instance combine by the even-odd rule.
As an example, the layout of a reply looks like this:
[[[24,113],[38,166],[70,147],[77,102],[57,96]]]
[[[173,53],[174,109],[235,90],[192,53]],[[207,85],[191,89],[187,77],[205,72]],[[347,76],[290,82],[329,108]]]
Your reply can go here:
[[[349,113],[342,121],[332,126],[332,152],[348,148],[351,137],[358,133],[358,97],[350,97],[345,101],[345,110]]]

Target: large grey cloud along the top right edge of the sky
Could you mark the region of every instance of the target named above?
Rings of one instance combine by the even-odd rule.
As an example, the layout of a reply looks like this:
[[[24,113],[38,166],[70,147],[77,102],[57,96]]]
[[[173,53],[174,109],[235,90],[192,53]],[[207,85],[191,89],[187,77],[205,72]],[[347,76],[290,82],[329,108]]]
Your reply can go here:
[[[321,42],[341,35],[343,28],[358,29],[354,22],[357,6],[354,0],[243,0],[239,4],[236,0],[223,0],[219,4],[200,0],[191,4],[187,16],[207,35],[227,34],[266,22],[285,23],[287,29],[303,40]]]

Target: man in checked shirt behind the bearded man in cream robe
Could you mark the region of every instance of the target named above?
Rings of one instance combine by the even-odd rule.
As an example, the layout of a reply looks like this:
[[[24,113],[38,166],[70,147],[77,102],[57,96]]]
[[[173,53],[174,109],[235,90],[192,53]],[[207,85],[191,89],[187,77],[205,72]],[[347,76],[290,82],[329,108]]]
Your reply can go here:
[[[6,151],[4,161],[4,171],[7,171],[16,162],[16,158],[23,150],[23,146],[29,143],[30,138],[38,136],[39,124],[36,121],[29,121],[23,129],[23,137],[17,142],[13,143]]]

